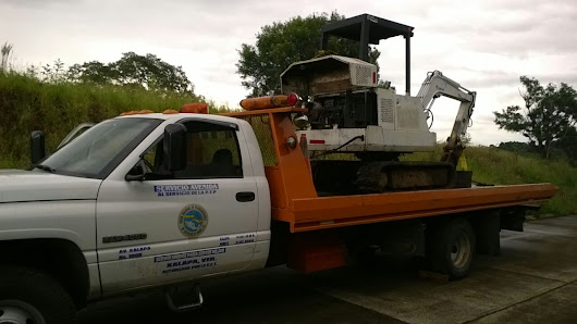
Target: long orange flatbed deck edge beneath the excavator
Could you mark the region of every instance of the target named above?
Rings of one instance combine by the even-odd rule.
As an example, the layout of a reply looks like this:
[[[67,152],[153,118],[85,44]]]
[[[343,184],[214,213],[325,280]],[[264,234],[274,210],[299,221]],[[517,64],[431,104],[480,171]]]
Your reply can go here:
[[[294,199],[292,217],[284,221],[293,232],[307,232],[535,204],[556,191],[551,184],[536,184]]]

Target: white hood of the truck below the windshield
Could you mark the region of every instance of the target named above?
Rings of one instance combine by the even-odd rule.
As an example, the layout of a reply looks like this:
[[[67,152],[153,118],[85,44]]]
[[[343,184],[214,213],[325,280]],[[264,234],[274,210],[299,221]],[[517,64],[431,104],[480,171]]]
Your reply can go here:
[[[101,182],[44,171],[0,170],[0,203],[96,199]]]

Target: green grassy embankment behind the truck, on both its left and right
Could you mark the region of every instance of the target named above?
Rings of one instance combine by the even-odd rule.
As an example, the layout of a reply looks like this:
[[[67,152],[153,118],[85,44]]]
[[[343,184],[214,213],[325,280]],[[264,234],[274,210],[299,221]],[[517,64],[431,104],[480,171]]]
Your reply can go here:
[[[28,166],[32,130],[45,132],[50,152],[79,123],[99,122],[130,110],[179,109],[183,103],[199,100],[194,96],[160,96],[144,89],[46,84],[25,76],[0,74],[0,169]],[[211,111],[217,111],[213,104]],[[437,161],[440,154],[439,149],[403,159]],[[470,147],[465,154],[474,180],[498,185],[553,183],[561,191],[541,212],[577,213],[577,169],[567,162],[488,147]]]

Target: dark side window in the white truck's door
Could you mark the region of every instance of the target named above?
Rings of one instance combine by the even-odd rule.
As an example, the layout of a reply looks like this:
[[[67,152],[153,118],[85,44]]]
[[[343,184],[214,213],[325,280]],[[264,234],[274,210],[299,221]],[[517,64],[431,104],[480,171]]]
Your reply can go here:
[[[174,174],[165,172],[162,165],[162,140],[158,140],[144,154],[152,166],[148,179],[194,179],[243,177],[241,149],[236,130],[209,122],[184,123],[187,135],[186,167]]]

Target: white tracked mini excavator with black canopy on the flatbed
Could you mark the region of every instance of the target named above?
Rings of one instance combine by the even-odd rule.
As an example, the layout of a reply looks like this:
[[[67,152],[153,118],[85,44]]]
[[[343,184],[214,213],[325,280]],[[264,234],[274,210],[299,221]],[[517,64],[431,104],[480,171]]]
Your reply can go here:
[[[434,71],[412,97],[413,32],[410,26],[368,14],[331,23],[322,27],[321,49],[326,52],[330,36],[354,39],[359,42],[359,58],[328,54],[295,62],[281,74],[282,92],[298,94],[308,109],[294,122],[312,153],[317,190],[332,195],[470,186],[470,173],[456,172],[455,165],[464,149],[461,139],[469,126],[476,92]],[[405,38],[406,46],[404,95],[397,95],[390,82],[379,82],[377,65],[368,62],[369,45],[398,36]],[[428,119],[441,96],[461,102],[441,161],[398,161],[403,153],[434,150],[437,134],[429,130]],[[327,159],[331,153],[355,158]]]

